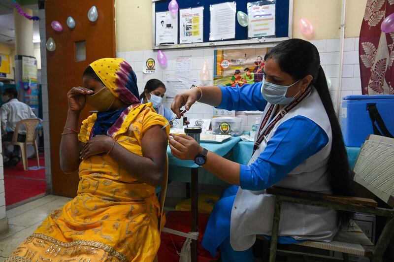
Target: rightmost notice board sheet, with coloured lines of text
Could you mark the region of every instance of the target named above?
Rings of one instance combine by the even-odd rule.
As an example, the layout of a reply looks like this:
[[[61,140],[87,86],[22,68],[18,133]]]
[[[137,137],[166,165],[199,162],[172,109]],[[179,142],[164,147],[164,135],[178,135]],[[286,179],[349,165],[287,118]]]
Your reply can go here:
[[[264,0],[248,3],[248,37],[275,35],[275,1]]]

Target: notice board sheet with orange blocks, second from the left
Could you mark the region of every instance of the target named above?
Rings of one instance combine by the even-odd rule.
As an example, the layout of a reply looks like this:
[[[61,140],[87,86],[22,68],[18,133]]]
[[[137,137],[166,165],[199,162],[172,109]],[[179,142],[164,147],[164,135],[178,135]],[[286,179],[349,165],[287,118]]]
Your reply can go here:
[[[202,42],[202,22],[204,7],[186,8],[179,10],[180,44]]]

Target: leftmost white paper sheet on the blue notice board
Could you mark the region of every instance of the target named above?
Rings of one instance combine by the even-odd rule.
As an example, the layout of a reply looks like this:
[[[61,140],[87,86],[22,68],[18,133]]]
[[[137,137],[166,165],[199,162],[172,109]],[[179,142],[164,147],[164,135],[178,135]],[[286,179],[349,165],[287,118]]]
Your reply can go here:
[[[170,12],[156,13],[156,45],[171,45],[178,43],[178,15]]]

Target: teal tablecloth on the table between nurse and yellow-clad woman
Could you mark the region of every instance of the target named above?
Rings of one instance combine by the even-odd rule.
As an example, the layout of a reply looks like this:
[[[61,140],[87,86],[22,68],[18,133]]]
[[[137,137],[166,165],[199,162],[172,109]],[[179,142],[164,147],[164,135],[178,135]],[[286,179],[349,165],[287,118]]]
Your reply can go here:
[[[201,142],[201,146],[206,148],[207,150],[224,157],[231,153],[233,147],[241,141],[241,138],[231,137],[230,139],[222,142],[222,143],[203,143]],[[222,185],[229,186],[228,183],[220,180],[213,174],[209,173],[203,168],[200,168],[194,161],[182,161],[175,158],[171,154],[171,150],[169,146],[167,147],[167,155],[168,155],[168,180],[169,181],[180,181],[180,182],[190,182],[190,168],[199,168],[198,170],[198,183],[199,184],[209,184],[209,185]],[[228,156],[230,160],[232,156]]]

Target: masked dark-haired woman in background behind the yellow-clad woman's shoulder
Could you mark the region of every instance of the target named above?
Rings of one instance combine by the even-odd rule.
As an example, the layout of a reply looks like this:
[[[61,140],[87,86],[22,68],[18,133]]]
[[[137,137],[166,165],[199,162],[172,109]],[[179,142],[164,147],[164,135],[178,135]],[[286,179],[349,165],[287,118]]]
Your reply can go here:
[[[141,93],[139,98],[141,99],[141,103],[152,102],[153,108],[156,112],[170,121],[172,118],[172,112],[163,105],[165,91],[165,85],[162,81],[159,79],[150,79],[146,82],[145,90]]]

